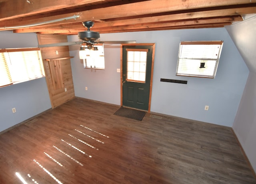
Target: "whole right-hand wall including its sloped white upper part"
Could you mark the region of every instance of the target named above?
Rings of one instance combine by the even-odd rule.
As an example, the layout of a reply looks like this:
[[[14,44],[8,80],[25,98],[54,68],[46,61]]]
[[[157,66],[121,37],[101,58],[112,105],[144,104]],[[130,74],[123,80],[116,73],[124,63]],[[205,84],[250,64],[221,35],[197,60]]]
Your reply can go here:
[[[233,129],[256,171],[256,14],[226,29],[250,70]]]

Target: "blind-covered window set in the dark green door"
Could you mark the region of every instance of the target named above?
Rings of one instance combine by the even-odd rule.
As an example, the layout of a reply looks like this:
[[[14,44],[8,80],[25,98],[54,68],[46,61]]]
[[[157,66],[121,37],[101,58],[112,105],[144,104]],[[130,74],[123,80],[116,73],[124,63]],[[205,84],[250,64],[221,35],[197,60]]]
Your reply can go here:
[[[126,49],[126,81],[146,82],[146,64],[148,49]]]

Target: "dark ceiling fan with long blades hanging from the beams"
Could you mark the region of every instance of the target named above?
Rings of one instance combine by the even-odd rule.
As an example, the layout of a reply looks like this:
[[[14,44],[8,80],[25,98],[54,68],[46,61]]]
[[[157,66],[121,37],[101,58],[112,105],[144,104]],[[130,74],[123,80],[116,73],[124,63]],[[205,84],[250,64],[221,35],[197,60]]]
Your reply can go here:
[[[82,44],[82,47],[85,49],[94,49],[95,44],[130,44],[136,43],[136,41],[100,41],[100,33],[91,31],[90,28],[94,25],[92,21],[82,22],[83,26],[87,28],[87,31],[78,32],[78,38],[82,41],[77,42],[61,42],[54,44],[43,44],[38,45],[39,48],[42,47],[56,47],[56,46],[68,46],[68,45],[78,45]]]

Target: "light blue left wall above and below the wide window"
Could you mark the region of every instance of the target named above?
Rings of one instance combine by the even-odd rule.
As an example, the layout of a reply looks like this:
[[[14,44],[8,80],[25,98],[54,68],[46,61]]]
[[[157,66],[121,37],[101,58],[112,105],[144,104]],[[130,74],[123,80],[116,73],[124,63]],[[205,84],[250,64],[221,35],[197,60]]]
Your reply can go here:
[[[36,34],[0,32],[0,48],[37,47]],[[16,113],[12,113],[12,108]],[[45,78],[0,88],[0,132],[51,108]]]

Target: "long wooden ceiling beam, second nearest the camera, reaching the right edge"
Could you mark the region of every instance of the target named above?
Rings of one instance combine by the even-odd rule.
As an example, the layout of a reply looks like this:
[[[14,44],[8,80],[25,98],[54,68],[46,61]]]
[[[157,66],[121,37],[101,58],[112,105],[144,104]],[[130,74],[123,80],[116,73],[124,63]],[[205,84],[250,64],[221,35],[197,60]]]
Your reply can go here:
[[[122,4],[118,6],[110,6],[105,8],[98,8],[92,10],[86,10],[82,12],[77,12],[80,15],[76,20],[69,20],[69,22],[82,22],[86,20],[106,20],[111,18],[120,18],[128,16],[140,16],[140,15],[150,15],[162,12],[172,12],[180,10],[192,10],[195,8],[209,8],[211,6],[232,6],[232,5],[242,5],[242,4],[253,4],[251,0],[150,0],[143,2],[135,2],[130,4]],[[141,8],[143,7],[143,8]],[[152,8],[154,7],[154,8]],[[222,7],[223,8],[223,7]],[[225,7],[228,8],[228,7]],[[221,9],[221,8],[220,8]],[[256,10],[254,10],[256,12]],[[0,22],[0,27],[5,26],[22,26],[26,24],[33,24],[38,22],[44,22],[48,20],[54,20],[64,17],[73,16],[74,13],[62,14],[56,16],[49,16],[44,18],[31,17],[30,20],[26,19],[23,22],[22,18],[17,20],[10,20],[10,22]],[[24,18],[25,19],[25,18]]]

